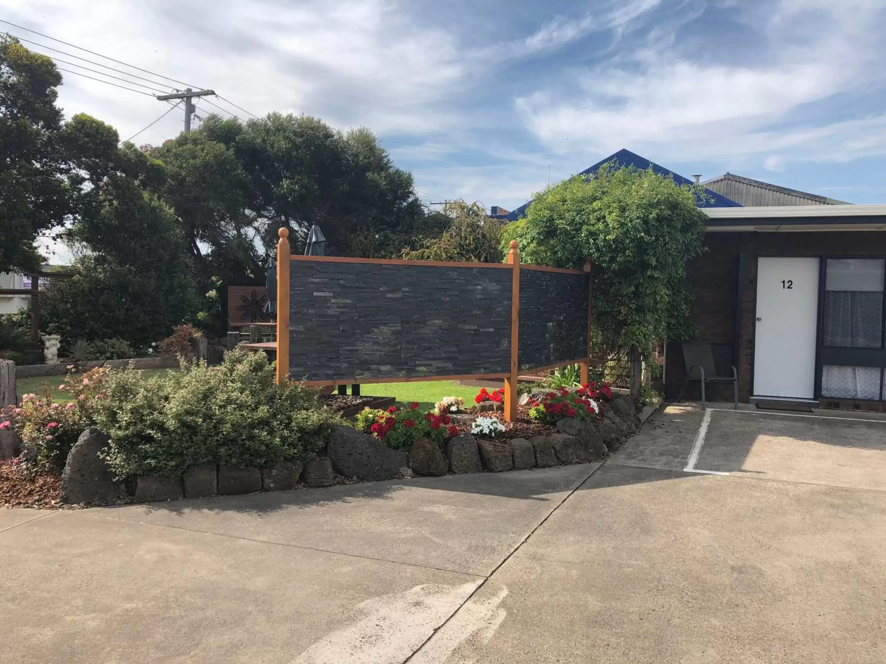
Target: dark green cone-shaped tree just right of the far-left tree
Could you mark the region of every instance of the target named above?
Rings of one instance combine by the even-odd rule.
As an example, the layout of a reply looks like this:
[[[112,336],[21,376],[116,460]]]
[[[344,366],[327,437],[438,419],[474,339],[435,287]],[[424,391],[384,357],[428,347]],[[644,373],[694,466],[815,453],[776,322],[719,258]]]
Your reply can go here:
[[[66,238],[80,255],[74,278],[51,280],[45,292],[47,328],[150,344],[190,320],[196,299],[178,220],[154,193],[164,166],[131,143],[118,148],[116,130],[89,116],[66,128],[82,166],[72,175],[80,193]]]

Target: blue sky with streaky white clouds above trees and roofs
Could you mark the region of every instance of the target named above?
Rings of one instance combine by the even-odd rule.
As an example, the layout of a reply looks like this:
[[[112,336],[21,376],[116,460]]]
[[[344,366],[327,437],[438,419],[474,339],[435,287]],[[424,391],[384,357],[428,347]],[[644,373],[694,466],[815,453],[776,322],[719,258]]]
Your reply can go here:
[[[231,103],[369,127],[427,201],[513,209],[626,148],[687,177],[886,203],[883,0],[5,0],[0,19],[214,89],[244,119]],[[66,114],[121,139],[169,108],[63,75]],[[134,140],[182,126],[175,109]]]

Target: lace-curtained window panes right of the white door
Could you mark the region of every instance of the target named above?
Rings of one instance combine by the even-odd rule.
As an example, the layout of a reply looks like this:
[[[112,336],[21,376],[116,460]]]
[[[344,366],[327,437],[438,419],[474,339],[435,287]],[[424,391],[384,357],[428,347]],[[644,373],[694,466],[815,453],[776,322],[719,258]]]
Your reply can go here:
[[[883,347],[883,259],[828,259],[823,315],[823,345],[828,348]],[[870,351],[867,351],[870,352]],[[863,363],[867,357],[855,359]],[[882,399],[882,367],[821,367],[821,396]]]

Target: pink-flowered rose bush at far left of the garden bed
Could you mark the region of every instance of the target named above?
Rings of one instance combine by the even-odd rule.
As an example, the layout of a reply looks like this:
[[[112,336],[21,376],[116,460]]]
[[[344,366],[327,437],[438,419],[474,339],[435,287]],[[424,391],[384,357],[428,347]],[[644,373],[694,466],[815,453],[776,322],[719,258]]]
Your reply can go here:
[[[97,399],[107,396],[103,382],[109,371],[97,367],[87,374],[67,374],[58,386],[73,397],[66,404],[53,401],[44,383],[40,394],[22,395],[20,408],[0,411],[0,429],[13,429],[25,446],[24,465],[51,472],[65,466],[67,453],[94,421]]]

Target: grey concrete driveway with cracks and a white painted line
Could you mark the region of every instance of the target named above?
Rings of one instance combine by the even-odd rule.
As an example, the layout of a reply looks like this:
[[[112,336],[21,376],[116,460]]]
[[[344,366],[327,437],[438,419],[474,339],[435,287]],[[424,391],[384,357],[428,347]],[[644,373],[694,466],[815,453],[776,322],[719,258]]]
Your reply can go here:
[[[886,423],[671,406],[601,467],[4,510],[0,564],[4,661],[882,662]]]

